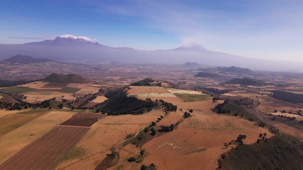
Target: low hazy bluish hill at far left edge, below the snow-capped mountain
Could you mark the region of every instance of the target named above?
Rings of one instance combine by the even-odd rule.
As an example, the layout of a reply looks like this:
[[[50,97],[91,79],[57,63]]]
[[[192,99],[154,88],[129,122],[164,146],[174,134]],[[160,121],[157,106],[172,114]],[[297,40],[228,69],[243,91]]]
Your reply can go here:
[[[48,61],[53,61],[53,60],[48,58],[34,58],[32,56],[18,54],[4,60],[0,60],[0,63],[9,64],[9,65],[24,65],[28,63],[42,63]]]

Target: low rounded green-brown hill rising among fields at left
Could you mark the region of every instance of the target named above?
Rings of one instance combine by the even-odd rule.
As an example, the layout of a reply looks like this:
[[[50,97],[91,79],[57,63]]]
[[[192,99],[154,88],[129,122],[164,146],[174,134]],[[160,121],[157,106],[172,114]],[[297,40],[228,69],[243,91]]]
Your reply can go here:
[[[49,81],[49,82],[74,82],[74,83],[87,83],[90,82],[89,79],[79,75],[79,74],[57,74],[52,73],[45,78],[42,79],[43,81]]]

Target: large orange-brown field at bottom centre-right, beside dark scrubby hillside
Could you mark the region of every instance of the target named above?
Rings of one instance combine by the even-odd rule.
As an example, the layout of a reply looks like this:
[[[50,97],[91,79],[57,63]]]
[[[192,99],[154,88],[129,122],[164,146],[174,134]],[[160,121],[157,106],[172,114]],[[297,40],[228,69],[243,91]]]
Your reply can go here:
[[[267,129],[257,126],[254,129],[222,131],[177,128],[147,142],[143,146],[147,157],[141,164],[153,162],[159,169],[216,169],[217,159],[232,147],[223,149],[223,143],[244,134],[247,136],[244,143],[251,144],[256,141],[259,133],[272,136]],[[140,164],[131,165],[124,169],[140,169]]]

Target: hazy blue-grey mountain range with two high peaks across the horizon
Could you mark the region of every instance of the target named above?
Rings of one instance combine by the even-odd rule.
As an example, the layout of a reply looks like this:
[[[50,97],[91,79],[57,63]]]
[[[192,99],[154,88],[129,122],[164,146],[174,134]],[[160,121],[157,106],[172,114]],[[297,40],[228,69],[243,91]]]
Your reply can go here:
[[[118,61],[124,63],[181,64],[190,61],[203,65],[236,66],[263,71],[283,71],[289,69],[303,71],[301,67],[303,63],[236,56],[207,50],[198,44],[169,50],[145,51],[132,48],[108,47],[98,42],[90,42],[81,38],[59,36],[54,40],[30,42],[20,45],[0,45],[0,59],[17,54],[81,63]]]

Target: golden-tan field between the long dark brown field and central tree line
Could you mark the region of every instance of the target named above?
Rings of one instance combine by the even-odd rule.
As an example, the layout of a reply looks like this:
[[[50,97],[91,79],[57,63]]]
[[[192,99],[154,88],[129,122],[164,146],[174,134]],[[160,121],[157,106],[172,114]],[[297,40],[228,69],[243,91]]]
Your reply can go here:
[[[163,111],[158,110],[143,115],[106,116],[95,123],[75,145],[75,147],[85,150],[84,155],[78,158],[65,160],[61,162],[56,169],[67,165],[68,166],[64,169],[94,169],[106,156],[107,148],[122,142],[128,134],[138,133],[145,126],[150,124],[152,121],[155,121],[163,114]],[[105,151],[100,154],[96,154],[103,150]],[[79,161],[88,156],[91,157],[83,161]]]

